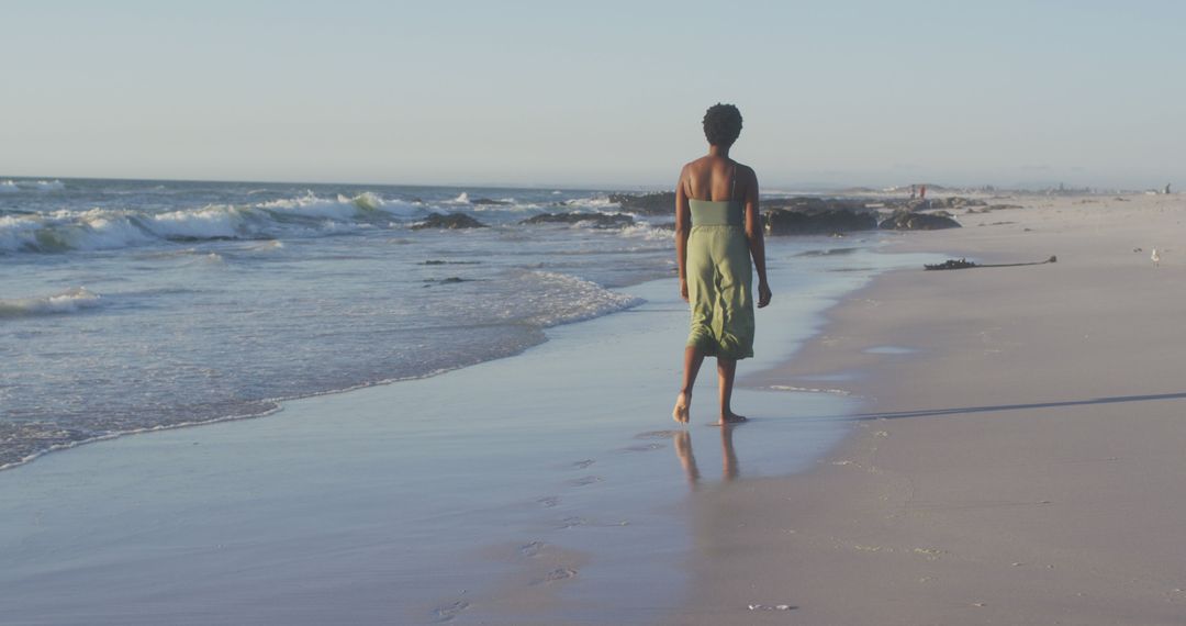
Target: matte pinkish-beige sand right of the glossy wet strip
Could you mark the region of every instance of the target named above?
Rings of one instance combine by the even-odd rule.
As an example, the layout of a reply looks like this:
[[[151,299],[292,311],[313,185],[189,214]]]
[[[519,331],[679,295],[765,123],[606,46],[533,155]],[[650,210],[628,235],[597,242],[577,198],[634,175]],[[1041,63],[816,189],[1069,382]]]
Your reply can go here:
[[[887,274],[750,381],[867,415],[812,472],[694,494],[672,622],[1186,624],[1186,198],[994,202],[1024,207],[890,251],[1058,262]]]

